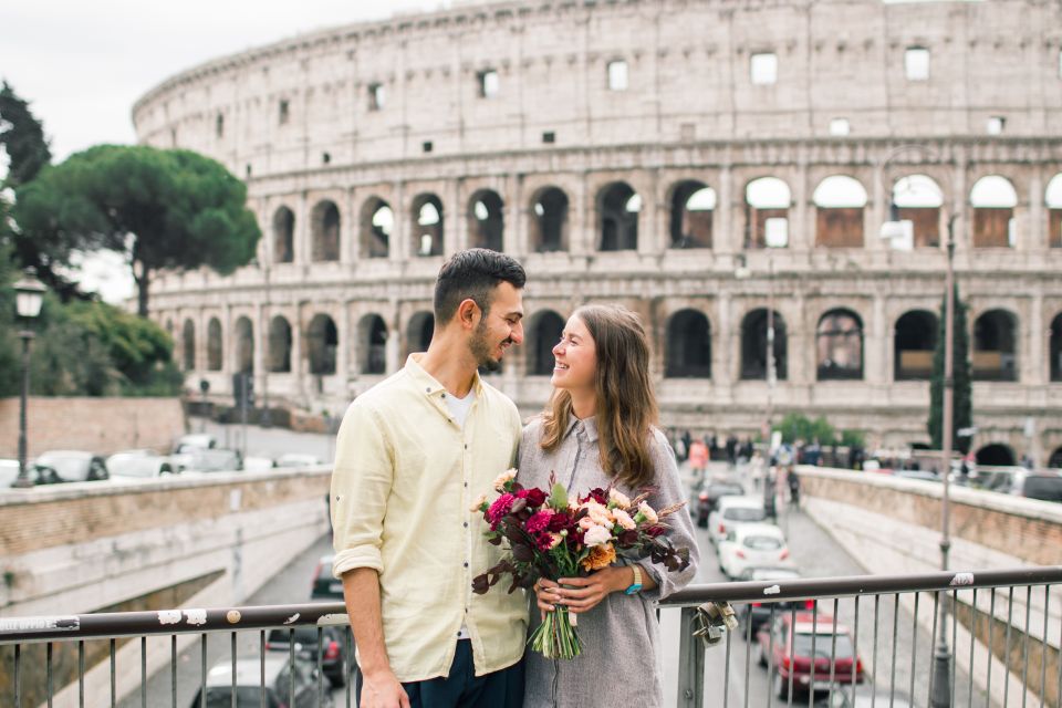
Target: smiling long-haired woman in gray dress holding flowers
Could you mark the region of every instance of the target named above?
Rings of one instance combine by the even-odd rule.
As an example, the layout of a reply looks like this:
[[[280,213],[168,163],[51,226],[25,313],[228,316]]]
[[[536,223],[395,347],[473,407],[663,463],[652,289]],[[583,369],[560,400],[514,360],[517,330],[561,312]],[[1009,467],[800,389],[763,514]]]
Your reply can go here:
[[[555,473],[570,497],[614,487],[634,498],[649,488],[654,509],[684,501],[675,456],[654,427],[649,347],[637,316],[616,305],[580,308],[553,356],[553,396],[523,430],[520,483],[548,489]],[[637,565],[620,561],[589,577],[535,585],[530,629],[542,613],[566,605],[577,618],[582,654],[550,660],[528,652],[524,708],[663,704],[654,603],[694,577],[698,558],[689,511],[680,509],[668,522],[671,543],[689,549],[684,571],[668,572],[648,559]]]

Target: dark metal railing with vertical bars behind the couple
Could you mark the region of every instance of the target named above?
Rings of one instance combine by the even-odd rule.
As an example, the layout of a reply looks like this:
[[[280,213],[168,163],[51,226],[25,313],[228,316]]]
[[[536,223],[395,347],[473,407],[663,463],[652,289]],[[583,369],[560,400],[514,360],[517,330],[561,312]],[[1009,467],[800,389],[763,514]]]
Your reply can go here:
[[[1028,704],[1030,706],[1058,706],[1062,688],[1059,654],[1062,622],[1051,615],[1051,595],[1054,594],[1055,603],[1059,603],[1058,589],[1052,593],[1052,587],[1060,584],[1062,566],[690,586],[660,604],[665,611],[680,610],[677,705],[699,708],[707,699],[707,705],[722,708],[810,707],[825,700],[825,705],[833,708],[848,708],[862,707],[864,704],[856,702],[856,695],[867,693],[870,698],[865,705],[893,708],[905,705],[1024,707],[1027,696],[1034,697]],[[810,606],[799,607],[794,601],[808,601]],[[699,626],[697,606],[708,602],[717,605],[733,603],[743,622],[739,631],[723,633],[719,646],[706,649],[705,643],[694,636],[694,631]],[[950,626],[938,626],[940,603],[951,610]],[[829,612],[822,611],[824,605]],[[757,632],[753,632],[756,622],[750,621],[753,607],[759,608],[762,620],[762,627]],[[1038,624],[1042,626],[1031,624],[1034,614],[1040,617]],[[846,626],[842,626],[842,621]],[[883,621],[884,629],[881,626]],[[122,698],[117,677],[119,670],[128,671],[128,667],[118,665],[119,647],[138,638],[139,702],[136,704],[134,694],[122,705],[186,706],[187,695],[192,690],[201,691],[202,696],[207,694],[208,678],[214,673],[208,671],[208,638],[215,637],[228,638],[228,659],[222,659],[218,666],[230,667],[229,690],[226,693],[231,696],[231,706],[242,707],[249,705],[246,702],[248,696],[246,688],[238,691],[238,687],[246,687],[247,676],[238,677],[237,663],[238,658],[244,663],[249,659],[238,657],[237,638],[240,633],[257,631],[259,670],[254,684],[257,699],[252,699],[254,705],[273,705],[270,701],[277,696],[268,697],[268,691],[278,691],[280,700],[295,705],[298,691],[312,690],[316,705],[330,706],[334,691],[324,679],[321,648],[326,627],[346,623],[345,608],[339,602],[0,618],[0,705],[22,708],[46,701],[52,706],[56,683],[65,684],[55,667],[58,649],[71,655],[76,649],[76,671],[71,667],[69,678],[76,681],[77,705],[106,705],[106,699],[96,702],[90,699],[86,704],[85,698],[86,646],[105,643],[103,650],[98,652],[101,660],[94,670],[103,671],[104,662],[110,664],[108,705],[117,706]],[[306,656],[298,646],[295,627],[300,626],[316,627],[315,656],[314,653]],[[288,671],[283,680],[278,680],[279,686],[267,687],[268,657],[278,655],[267,648],[267,632],[278,628],[287,629],[288,634]],[[891,638],[886,636],[883,641],[882,635],[889,632]],[[794,650],[796,633],[810,634],[809,660],[804,662],[803,668],[802,657]],[[188,637],[190,654],[196,653],[195,644],[198,644],[198,680],[191,686],[178,680],[178,636],[189,634],[199,635],[198,642],[196,637]],[[342,699],[346,706],[353,706],[353,681],[350,680],[353,647],[351,633],[344,631],[342,634],[343,671],[347,679],[343,681]],[[941,639],[949,635],[951,654],[941,657]],[[149,637],[169,638],[169,695],[165,704],[157,699],[148,701]],[[775,637],[784,637],[784,641],[777,642]],[[742,638],[743,645],[738,644]],[[819,643],[829,646],[829,653],[826,646],[816,646]],[[28,652],[39,650],[42,644],[45,647],[43,676],[39,674],[39,662],[28,658]],[[217,648],[216,644],[214,646]],[[135,645],[124,648],[123,656],[128,657]],[[900,648],[903,655],[899,655]],[[188,663],[188,655],[184,656],[181,660]],[[964,660],[966,668],[961,671],[957,669],[956,657],[968,659]],[[752,668],[753,658],[761,658],[766,673]],[[306,662],[310,666],[315,664],[315,671],[308,671],[312,688],[296,686],[299,673],[294,667],[296,663],[305,665]],[[944,667],[943,671],[940,667]],[[93,670],[92,667],[88,670]],[[993,678],[997,681],[995,693]],[[934,686],[940,681],[947,681],[949,697],[945,704],[940,704],[941,686]],[[1002,681],[1001,686],[999,681]],[[220,688],[216,687],[216,690]],[[180,704],[178,693],[185,695]],[[1011,698],[1011,694],[1018,698]],[[1001,701],[993,698],[1000,695]]]

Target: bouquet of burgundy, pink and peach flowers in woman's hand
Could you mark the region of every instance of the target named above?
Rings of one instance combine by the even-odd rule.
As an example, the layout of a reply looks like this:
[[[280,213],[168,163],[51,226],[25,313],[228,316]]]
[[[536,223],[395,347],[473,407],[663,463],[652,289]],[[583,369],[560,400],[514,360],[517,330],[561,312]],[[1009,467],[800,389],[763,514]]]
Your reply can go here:
[[[541,577],[586,576],[618,556],[631,561],[648,558],[669,571],[689,565],[689,549],[676,549],[664,535],[668,528],[665,519],[685,502],[657,511],[645,501],[648,491],[628,499],[613,488],[594,489],[569,500],[555,476],[550,476],[550,486],[549,493],[524,488],[516,481],[516,470],[509,470],[494,480],[497,499],[489,501],[481,494],[476,500],[472,511],[482,513],[490,525],[486,532],[489,542],[504,543],[509,552],[472,580],[473,592],[488,592],[503,575],[512,576],[510,593],[530,589]],[[558,606],[528,643],[546,658],[574,658],[582,650],[575,624],[568,607]]]

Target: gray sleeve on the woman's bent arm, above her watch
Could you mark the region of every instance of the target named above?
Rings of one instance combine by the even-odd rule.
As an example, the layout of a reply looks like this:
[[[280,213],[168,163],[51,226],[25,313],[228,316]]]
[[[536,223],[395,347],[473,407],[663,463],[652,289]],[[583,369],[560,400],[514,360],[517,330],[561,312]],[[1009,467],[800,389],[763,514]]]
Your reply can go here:
[[[675,503],[687,502],[683,482],[678,476],[675,452],[664,435],[656,430],[653,440],[653,465],[656,468],[656,489],[647,499],[650,507],[660,510]],[[689,549],[689,565],[681,571],[668,571],[664,563],[653,563],[649,559],[638,561],[653,574],[657,587],[643,595],[649,601],[664,600],[685,587],[697,575],[700,552],[694,535],[694,522],[689,516],[688,502],[681,509],[667,517],[667,539],[676,549]]]

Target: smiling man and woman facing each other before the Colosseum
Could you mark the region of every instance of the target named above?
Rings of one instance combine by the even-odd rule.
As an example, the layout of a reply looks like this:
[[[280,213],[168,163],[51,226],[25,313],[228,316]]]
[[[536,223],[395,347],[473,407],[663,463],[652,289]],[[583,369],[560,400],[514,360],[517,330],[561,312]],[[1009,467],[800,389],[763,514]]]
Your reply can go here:
[[[553,347],[553,395],[521,429],[516,405],[482,381],[523,341],[523,268],[485,249],[461,251],[439,271],[428,351],[350,406],[332,477],[333,573],[343,580],[357,645],[361,708],[520,708],[663,701],[654,601],[697,570],[689,513],[671,518],[690,564],[668,572],[648,559],[589,577],[540,581],[537,607],[472,579],[501,550],[487,543],[472,500],[518,464],[525,487],[570,494],[653,489],[655,509],[684,500],[675,457],[654,427],[649,348],[636,315],[587,305]],[[583,653],[548,660],[524,645],[543,613],[579,614]],[[530,626],[529,626],[530,625]]]

